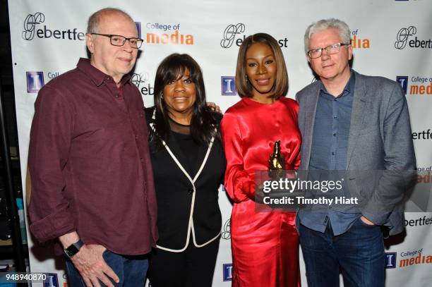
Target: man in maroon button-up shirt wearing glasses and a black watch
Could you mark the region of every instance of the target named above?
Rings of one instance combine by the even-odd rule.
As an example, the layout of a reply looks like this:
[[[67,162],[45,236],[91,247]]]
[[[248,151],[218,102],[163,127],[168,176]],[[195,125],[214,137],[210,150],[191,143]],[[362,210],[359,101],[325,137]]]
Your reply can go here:
[[[126,13],[97,11],[90,60],[35,102],[30,230],[40,242],[58,238],[71,286],[144,285],[157,210],[143,99],[128,75],[142,42]]]

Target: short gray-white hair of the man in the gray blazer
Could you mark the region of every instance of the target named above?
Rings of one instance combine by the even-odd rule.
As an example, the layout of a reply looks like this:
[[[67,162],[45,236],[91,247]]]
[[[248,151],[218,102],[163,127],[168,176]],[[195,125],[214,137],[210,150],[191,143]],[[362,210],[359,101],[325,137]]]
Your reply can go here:
[[[331,28],[337,29],[339,31],[339,36],[340,39],[342,39],[342,43],[349,44],[351,39],[351,31],[349,30],[347,23],[335,18],[321,19],[309,25],[309,27],[306,29],[306,32],[304,33],[304,51],[307,53],[309,50],[309,41],[311,40],[313,33]]]

